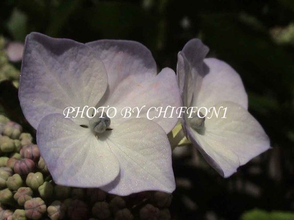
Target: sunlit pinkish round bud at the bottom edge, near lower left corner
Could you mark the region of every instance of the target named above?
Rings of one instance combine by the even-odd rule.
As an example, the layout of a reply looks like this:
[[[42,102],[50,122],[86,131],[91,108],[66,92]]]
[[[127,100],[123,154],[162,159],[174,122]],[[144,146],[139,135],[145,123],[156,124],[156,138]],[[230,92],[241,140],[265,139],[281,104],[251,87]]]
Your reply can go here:
[[[25,202],[25,216],[29,219],[41,219],[47,207],[42,198],[31,198]]]

